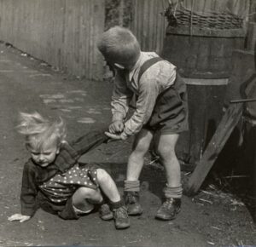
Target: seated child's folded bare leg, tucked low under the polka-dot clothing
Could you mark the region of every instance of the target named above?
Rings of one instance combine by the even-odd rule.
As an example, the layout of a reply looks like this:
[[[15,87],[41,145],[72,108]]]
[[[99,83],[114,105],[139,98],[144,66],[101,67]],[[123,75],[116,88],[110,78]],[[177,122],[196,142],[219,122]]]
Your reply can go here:
[[[79,187],[73,194],[73,206],[84,212],[90,211],[93,209],[93,205],[88,203],[88,199],[92,204],[100,204],[102,202],[102,193],[100,190],[94,190],[89,187]]]

